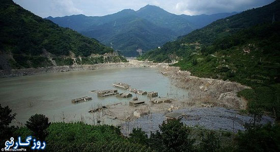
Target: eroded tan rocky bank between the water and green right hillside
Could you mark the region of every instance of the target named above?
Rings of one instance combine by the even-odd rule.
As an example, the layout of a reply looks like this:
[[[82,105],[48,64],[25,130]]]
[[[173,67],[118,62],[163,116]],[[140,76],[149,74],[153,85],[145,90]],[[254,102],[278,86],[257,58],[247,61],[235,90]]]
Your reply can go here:
[[[237,97],[237,92],[249,88],[239,83],[217,79],[198,78],[191,76],[189,71],[181,71],[178,67],[162,67],[161,73],[172,78],[176,86],[189,90],[186,102],[194,105],[213,104],[230,109],[245,109],[246,102]]]

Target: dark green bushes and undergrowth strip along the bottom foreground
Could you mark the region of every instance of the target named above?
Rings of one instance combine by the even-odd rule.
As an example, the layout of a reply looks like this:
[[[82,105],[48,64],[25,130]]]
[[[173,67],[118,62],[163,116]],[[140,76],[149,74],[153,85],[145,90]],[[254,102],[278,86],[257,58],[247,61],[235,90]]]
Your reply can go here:
[[[150,137],[142,129],[133,129],[129,137],[111,125],[83,122],[50,123],[36,114],[24,126],[9,125],[16,114],[0,105],[0,142],[10,137],[29,135],[46,141],[46,151],[277,151],[280,149],[280,124],[247,124],[245,132],[212,131],[185,126],[179,120],[163,122]],[[30,147],[26,147],[27,150]]]

